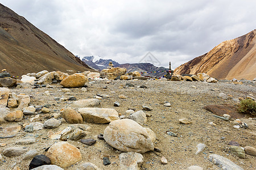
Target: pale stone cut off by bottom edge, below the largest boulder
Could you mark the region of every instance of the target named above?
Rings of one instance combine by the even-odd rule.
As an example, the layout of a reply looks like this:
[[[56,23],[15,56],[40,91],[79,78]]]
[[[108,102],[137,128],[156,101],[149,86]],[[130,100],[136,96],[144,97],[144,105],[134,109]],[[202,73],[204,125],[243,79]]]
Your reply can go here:
[[[139,170],[141,169],[143,160],[144,158],[141,154],[136,152],[123,152],[119,155],[119,169]]]

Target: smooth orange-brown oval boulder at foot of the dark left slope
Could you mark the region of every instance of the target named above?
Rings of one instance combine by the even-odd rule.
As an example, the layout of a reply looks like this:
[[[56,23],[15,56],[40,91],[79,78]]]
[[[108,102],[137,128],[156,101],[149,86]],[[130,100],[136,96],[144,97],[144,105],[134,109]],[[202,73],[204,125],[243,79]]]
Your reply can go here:
[[[82,87],[84,84],[88,81],[85,75],[82,74],[72,74],[67,76],[67,78],[63,79],[60,82],[60,85],[65,88],[71,88],[71,87]]]

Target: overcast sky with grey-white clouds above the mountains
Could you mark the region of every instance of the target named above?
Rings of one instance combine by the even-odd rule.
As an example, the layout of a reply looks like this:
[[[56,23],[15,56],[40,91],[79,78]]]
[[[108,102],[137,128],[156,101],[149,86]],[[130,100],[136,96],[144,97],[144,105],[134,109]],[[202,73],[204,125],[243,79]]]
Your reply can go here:
[[[74,55],[172,69],[256,28],[255,0],[0,2]]]

